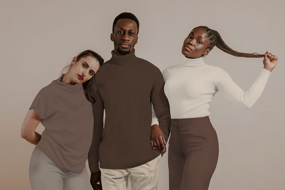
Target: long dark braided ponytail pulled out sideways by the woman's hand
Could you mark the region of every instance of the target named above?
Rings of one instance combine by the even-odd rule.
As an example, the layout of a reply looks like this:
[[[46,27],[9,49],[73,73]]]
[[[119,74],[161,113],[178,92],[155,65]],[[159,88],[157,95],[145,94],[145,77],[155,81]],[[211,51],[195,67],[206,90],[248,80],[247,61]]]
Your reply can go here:
[[[264,57],[264,54],[258,54],[258,53],[241,53],[233,50],[230,48],[222,39],[220,34],[216,30],[212,30],[211,28],[208,28],[207,26],[198,26],[196,28],[204,28],[207,33],[207,38],[209,40],[209,45],[207,46],[207,49],[212,50],[215,46],[222,50],[223,52],[226,52],[228,54],[231,54],[236,57],[247,57],[247,58],[261,58]],[[194,29],[196,29],[194,28]],[[193,29],[193,30],[194,30]]]

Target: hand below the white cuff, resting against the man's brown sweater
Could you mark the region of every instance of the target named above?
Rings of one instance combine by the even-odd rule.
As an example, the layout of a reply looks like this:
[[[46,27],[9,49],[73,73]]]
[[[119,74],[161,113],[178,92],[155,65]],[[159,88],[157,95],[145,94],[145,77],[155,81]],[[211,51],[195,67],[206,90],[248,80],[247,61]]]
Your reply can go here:
[[[154,149],[160,152],[166,151],[164,134],[157,124],[151,126],[150,144]]]

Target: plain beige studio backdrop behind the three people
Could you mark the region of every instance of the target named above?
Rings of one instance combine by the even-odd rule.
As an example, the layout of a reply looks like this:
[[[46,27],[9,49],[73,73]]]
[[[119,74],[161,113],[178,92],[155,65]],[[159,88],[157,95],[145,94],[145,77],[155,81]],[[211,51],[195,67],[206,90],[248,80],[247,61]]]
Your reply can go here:
[[[220,152],[209,189],[284,189],[284,5],[281,0],[1,0],[0,189],[30,189],[28,165],[34,145],[21,138],[20,130],[32,100],[79,52],[91,49],[109,60],[112,23],[121,12],[132,12],[140,21],[136,55],[160,70],[182,60],[183,40],[199,25],[217,30],[234,50],[269,50],[278,56],[277,67],[251,109],[219,93],[213,98],[210,119]],[[263,67],[262,58],[238,58],[218,48],[205,62],[223,68],[244,90]],[[42,130],[40,124],[36,131]],[[167,153],[160,161],[158,189],[168,189]]]

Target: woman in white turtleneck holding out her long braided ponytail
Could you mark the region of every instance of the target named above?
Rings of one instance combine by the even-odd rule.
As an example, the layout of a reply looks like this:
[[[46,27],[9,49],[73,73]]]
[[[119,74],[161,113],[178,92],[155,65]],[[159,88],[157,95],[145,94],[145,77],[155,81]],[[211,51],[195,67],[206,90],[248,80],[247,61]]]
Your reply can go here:
[[[238,57],[264,58],[260,74],[247,91],[236,85],[229,74],[219,67],[205,64],[204,58],[214,46]],[[169,189],[208,189],[215,171],[219,145],[209,120],[209,103],[220,91],[227,99],[250,108],[260,97],[278,58],[268,54],[248,54],[232,50],[219,33],[207,26],[194,28],[182,46],[182,63],[166,68],[162,74],[164,91],[171,113],[168,150]],[[152,109],[152,126],[158,124]],[[160,144],[151,140],[154,148]],[[165,144],[165,143],[164,143]]]

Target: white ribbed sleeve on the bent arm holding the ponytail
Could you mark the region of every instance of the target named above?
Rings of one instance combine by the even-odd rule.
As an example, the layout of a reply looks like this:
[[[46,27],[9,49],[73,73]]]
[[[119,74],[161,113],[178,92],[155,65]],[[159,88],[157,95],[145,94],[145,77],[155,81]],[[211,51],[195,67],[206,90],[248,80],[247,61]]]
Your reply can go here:
[[[213,84],[229,101],[251,108],[260,97],[271,72],[262,68],[255,82],[243,91],[229,76],[229,74],[221,68],[212,68]]]

